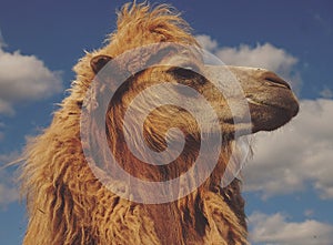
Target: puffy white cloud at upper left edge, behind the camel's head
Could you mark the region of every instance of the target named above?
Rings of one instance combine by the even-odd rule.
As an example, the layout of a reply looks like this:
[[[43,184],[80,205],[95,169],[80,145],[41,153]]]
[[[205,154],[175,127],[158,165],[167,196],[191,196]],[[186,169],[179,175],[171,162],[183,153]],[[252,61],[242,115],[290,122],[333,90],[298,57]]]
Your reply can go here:
[[[34,55],[6,52],[3,47],[0,38],[0,114],[13,114],[14,104],[46,99],[62,91],[59,72],[50,71]]]

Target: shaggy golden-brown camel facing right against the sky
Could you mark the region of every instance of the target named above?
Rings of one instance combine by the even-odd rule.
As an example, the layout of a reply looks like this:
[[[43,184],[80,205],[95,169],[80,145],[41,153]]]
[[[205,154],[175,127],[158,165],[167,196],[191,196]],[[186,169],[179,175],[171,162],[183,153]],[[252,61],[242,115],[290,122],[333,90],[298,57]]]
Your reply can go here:
[[[295,95],[276,74],[256,68],[203,67],[196,59],[190,60],[198,72],[184,65],[153,65],[139,72],[133,69],[137,63],[149,63],[161,49],[151,49],[138,60],[120,63],[121,70],[130,75],[108,102],[105,120],[102,123],[91,121],[92,131],[100,124],[105,127],[91,134],[98,155],[103,160],[104,149],[99,142],[104,137],[121,167],[138,178],[164,182],[188,171],[198,156],[202,139],[195,120],[179,106],[165,105],[154,110],[147,118],[143,129],[144,143],[155,152],[162,152],[168,146],[165,135],[170,127],[176,126],[183,132],[184,150],[171,164],[143,164],[130,154],[124,140],[124,112],[131,101],[138,93],[162,80],[164,83],[185,84],[206,98],[223,131],[221,144],[210,149],[212,152],[220,151],[218,163],[195,190],[162,203],[135,202],[110,191],[101,177],[97,177],[100,170],[93,170],[88,163],[84,155],[87,142],[82,141],[80,123],[83,110],[97,113],[100,106],[95,103],[87,108],[87,93],[91,84],[95,79],[101,80],[99,74],[117,57],[154,43],[199,47],[188,23],[169,6],[151,8],[148,3],[128,3],[119,12],[118,29],[109,35],[108,43],[100,50],[87,52],[74,67],[77,79],[70,95],[54,112],[51,125],[31,140],[26,150],[22,188],[27,196],[29,223],[23,244],[249,244],[241,181],[234,178],[226,186],[221,186],[221,178],[232,154],[230,150],[235,132],[246,135],[273,131],[297,114]],[[167,54],[159,52],[159,55],[168,59],[169,52],[172,52],[170,50]],[[246,114],[244,110],[236,108],[239,110],[232,111],[228,106],[225,96],[200,74],[202,70],[208,76],[211,74],[210,78],[225,72],[234,75],[242,88],[251,121],[243,120]],[[230,91],[229,99],[238,105],[238,96],[232,96],[232,88]],[[181,93],[178,90],[168,91],[178,92]],[[159,98],[159,94],[153,95]],[[203,116],[203,123],[208,118]],[[135,116],[129,120],[135,123]],[[214,131],[210,135],[214,135]],[[210,153],[204,155],[208,162]],[[108,183],[123,190],[123,183]],[[150,192],[153,190],[140,195],[148,198]]]

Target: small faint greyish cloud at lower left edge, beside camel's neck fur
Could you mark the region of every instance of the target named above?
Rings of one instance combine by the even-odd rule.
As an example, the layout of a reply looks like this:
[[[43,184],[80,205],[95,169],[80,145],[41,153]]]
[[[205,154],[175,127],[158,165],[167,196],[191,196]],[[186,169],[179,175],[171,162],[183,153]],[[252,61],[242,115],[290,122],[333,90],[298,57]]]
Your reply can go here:
[[[18,152],[0,155],[0,208],[19,200],[19,190],[14,183],[13,174],[3,169],[11,161],[19,159]]]

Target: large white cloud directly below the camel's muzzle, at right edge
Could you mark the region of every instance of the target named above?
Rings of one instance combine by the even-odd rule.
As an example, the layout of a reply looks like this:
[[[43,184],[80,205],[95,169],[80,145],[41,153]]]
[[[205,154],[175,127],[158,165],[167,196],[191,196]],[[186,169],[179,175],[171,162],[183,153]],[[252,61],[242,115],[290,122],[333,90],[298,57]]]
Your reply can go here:
[[[314,187],[333,198],[333,100],[301,101],[300,114],[286,126],[256,134],[254,156],[244,167],[245,191],[262,197]]]

